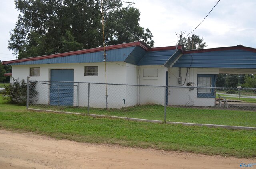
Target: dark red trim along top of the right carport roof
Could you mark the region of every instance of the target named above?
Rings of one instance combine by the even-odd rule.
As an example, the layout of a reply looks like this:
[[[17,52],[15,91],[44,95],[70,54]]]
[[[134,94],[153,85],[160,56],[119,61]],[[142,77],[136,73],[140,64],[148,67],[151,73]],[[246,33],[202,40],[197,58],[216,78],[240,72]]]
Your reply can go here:
[[[251,47],[245,47],[245,46],[230,46],[230,47],[218,47],[218,48],[211,48],[211,49],[195,49],[195,50],[188,50],[184,51],[184,54],[189,53],[202,53],[202,52],[212,52],[212,51],[224,51],[224,50],[235,50],[235,49],[241,49],[245,51],[252,51],[256,52],[255,48]]]

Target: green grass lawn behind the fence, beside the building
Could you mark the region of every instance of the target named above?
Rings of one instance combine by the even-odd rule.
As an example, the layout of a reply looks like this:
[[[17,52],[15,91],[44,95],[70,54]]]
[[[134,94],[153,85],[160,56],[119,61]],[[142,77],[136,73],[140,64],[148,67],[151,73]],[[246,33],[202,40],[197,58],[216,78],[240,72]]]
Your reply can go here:
[[[60,108],[58,108],[57,106],[33,105],[30,106],[30,108],[55,110],[63,112],[87,113],[86,107],[77,108],[60,106]],[[164,106],[146,105],[108,110],[90,108],[89,114],[164,121]],[[188,122],[201,124],[256,127],[255,119],[256,112],[253,111],[250,112],[218,108],[182,108],[169,106],[166,108],[166,121],[169,122]]]

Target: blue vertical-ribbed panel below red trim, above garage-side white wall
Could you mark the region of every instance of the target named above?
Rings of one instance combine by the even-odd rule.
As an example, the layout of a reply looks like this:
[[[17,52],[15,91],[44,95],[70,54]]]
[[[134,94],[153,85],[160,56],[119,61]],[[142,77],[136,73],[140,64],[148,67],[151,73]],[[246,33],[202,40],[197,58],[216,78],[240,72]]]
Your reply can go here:
[[[135,46],[124,47],[119,49],[112,49],[106,51],[107,62],[125,61],[130,53],[134,50]],[[103,62],[103,51],[84,53],[79,55],[70,55],[64,57],[55,57],[50,59],[41,59],[34,61],[25,61],[19,63],[12,63],[9,65],[33,65],[33,64],[56,64],[56,63],[96,63]]]

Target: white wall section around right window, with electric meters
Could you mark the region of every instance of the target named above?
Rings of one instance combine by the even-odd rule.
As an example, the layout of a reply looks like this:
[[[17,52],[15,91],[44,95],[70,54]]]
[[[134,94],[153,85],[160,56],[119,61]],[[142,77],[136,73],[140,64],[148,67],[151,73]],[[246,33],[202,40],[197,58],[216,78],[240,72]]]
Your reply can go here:
[[[182,84],[186,77],[186,68],[181,68]],[[187,82],[195,83],[197,86],[198,74],[218,74],[218,68],[190,68],[186,78]],[[169,86],[180,86],[178,83],[179,68],[169,68]],[[186,86],[186,83],[183,86]],[[168,105],[188,105],[188,106],[215,106],[215,98],[198,98],[197,89],[189,88],[169,88]]]

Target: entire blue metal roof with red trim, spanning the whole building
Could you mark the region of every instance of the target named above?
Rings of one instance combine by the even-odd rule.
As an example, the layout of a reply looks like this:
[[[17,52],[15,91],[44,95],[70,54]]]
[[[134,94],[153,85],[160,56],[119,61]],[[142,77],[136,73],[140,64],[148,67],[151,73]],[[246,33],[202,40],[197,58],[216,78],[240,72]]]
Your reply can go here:
[[[6,65],[103,62],[103,47],[4,61]],[[165,67],[256,68],[256,49],[242,45],[185,51],[183,46],[150,48],[142,42],[106,47],[109,62]]]

